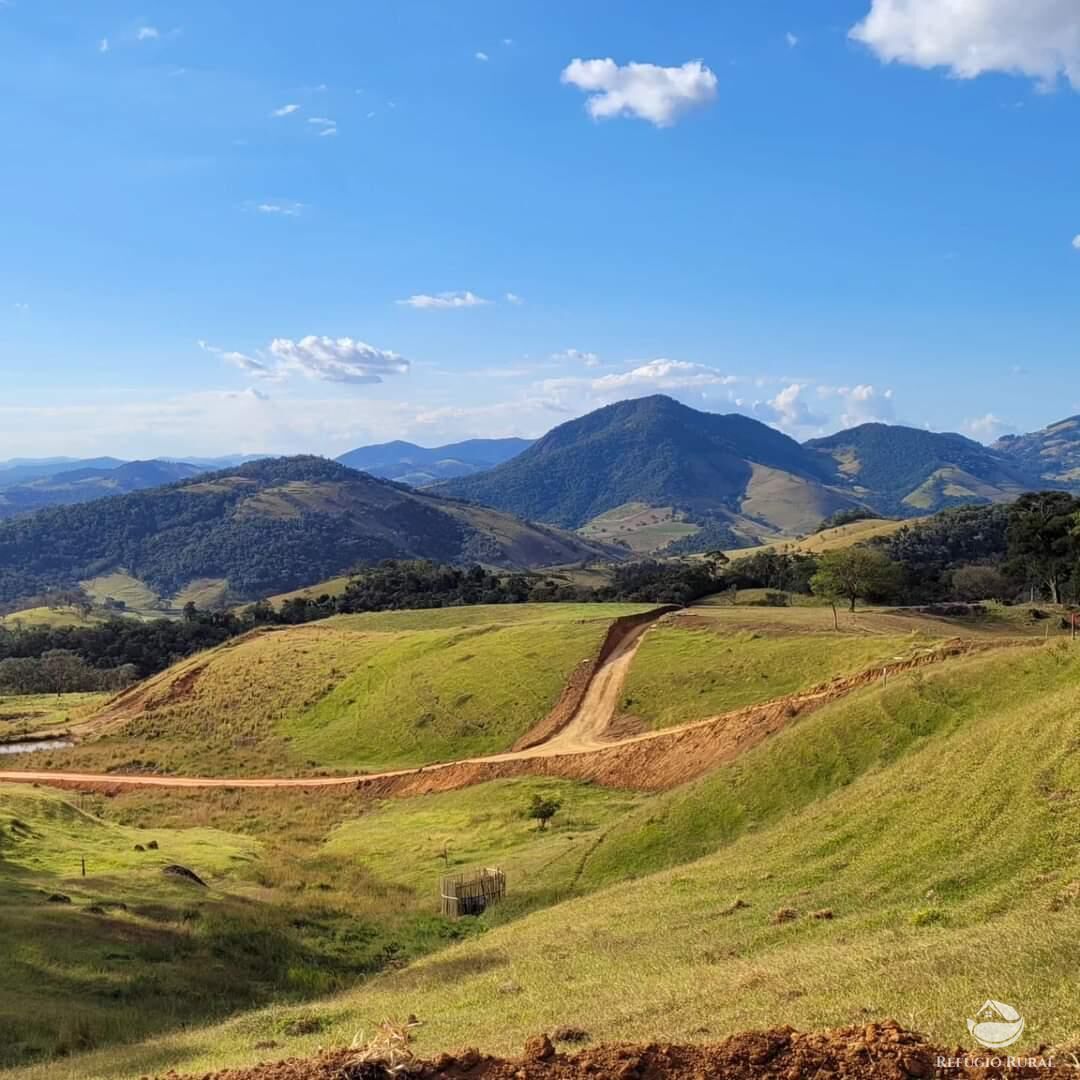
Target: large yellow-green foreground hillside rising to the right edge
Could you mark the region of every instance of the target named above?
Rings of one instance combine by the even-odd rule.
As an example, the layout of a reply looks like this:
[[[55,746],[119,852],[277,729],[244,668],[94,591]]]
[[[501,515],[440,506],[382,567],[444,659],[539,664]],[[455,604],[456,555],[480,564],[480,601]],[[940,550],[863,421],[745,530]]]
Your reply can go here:
[[[426,1052],[516,1049],[564,1023],[693,1040],[886,1015],[957,1042],[987,994],[1024,1012],[1031,1044],[1076,1039],[1080,903],[1059,897],[1080,878],[1078,683],[1076,651],[1058,647],[962,661],[812,714],[632,812],[582,883],[659,873],[327,1001],[308,1049],[408,1013],[426,1022]],[[735,899],[748,906],[730,910]],[[774,924],[780,907],[799,917]],[[824,908],[835,918],[808,917]],[[49,1076],[249,1061],[280,1023],[245,1016]]]

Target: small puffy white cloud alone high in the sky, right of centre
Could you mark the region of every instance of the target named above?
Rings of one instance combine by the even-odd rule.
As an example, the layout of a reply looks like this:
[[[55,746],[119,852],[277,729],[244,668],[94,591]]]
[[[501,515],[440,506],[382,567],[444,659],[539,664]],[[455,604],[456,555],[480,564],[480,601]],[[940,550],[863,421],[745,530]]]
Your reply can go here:
[[[626,64],[613,59],[572,60],[563,82],[589,93],[585,108],[594,120],[637,117],[669,127],[687,110],[716,97],[716,76],[701,60],[681,67]]]

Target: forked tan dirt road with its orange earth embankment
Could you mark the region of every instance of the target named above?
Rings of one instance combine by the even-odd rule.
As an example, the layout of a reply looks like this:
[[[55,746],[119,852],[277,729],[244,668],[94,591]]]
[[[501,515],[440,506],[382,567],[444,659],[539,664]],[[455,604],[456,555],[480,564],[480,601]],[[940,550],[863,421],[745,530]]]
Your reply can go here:
[[[551,738],[527,750],[462,758],[420,768],[356,773],[348,777],[132,777],[54,770],[0,770],[0,782],[96,789],[354,786],[370,791],[373,794],[400,795],[445,791],[483,783],[497,777],[522,775],[535,771],[544,775],[595,780],[612,786],[671,787],[676,783],[686,782],[712,764],[730,759],[744,752],[762,738],[775,733],[789,718],[876,681],[886,671],[890,675],[901,674],[950,657],[1009,646],[1041,644],[1030,640],[943,642],[918,657],[887,664],[883,667],[876,666],[858,675],[832,679],[801,693],[761,702],[723,716],[713,716],[623,739],[605,738],[617,715],[619,697],[634,656],[649,625],[652,623],[637,627],[629,634],[600,664],[570,720]]]

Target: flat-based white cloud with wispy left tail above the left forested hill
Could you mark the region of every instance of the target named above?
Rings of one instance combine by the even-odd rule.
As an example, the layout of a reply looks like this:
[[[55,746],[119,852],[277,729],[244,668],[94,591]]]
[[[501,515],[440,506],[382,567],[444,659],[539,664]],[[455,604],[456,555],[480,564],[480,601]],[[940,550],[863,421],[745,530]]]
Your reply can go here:
[[[204,352],[219,356],[227,364],[258,379],[280,382],[291,375],[302,375],[323,382],[353,384],[382,382],[389,375],[405,375],[409,362],[388,349],[353,338],[308,335],[299,341],[274,338],[266,352],[252,356],[244,352],[219,349],[200,341]]]

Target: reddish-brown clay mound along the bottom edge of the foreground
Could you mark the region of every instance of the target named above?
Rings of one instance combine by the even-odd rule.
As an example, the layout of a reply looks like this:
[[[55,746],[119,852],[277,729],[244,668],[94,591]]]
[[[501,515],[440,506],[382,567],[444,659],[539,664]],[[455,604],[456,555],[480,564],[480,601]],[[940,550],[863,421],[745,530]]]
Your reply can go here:
[[[1072,1056],[1049,1052],[945,1050],[887,1021],[866,1027],[802,1034],[793,1028],[732,1036],[715,1047],[667,1043],[605,1045],[572,1055],[556,1053],[545,1036],[530,1039],[515,1061],[486,1057],[475,1050],[434,1061],[402,1061],[391,1068],[363,1061],[357,1051],[338,1051],[251,1069],[228,1070],[203,1080],[908,1080],[908,1078],[1076,1078]],[[993,1064],[997,1059],[999,1064]],[[175,1074],[168,1080],[177,1080]]]

